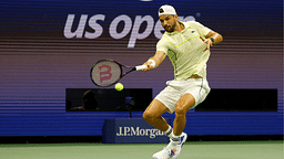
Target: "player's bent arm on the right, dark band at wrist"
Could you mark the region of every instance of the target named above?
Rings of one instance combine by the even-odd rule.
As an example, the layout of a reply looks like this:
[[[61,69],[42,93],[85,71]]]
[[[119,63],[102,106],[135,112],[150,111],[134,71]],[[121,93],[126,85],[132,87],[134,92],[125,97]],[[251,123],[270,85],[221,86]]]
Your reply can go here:
[[[215,45],[215,44],[219,44],[220,42],[223,41],[223,36],[217,33],[217,32],[214,32],[214,31],[210,31],[206,36],[200,36],[200,39],[207,44],[207,46],[203,50],[206,51],[206,50],[210,50],[211,46]]]

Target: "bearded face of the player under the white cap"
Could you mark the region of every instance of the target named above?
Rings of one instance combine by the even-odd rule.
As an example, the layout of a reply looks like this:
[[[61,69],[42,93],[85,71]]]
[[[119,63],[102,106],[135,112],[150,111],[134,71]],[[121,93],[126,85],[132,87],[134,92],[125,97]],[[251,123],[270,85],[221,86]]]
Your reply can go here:
[[[176,15],[163,14],[160,15],[160,21],[166,32],[174,32],[178,22]]]

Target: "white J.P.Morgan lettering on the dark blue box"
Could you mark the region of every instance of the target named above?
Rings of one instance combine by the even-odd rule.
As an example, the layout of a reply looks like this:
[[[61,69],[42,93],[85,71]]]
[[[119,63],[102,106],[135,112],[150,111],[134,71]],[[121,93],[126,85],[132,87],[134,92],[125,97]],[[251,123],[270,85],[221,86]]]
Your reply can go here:
[[[119,127],[116,136],[149,136],[149,138],[155,138],[158,136],[165,136],[163,131],[152,128],[143,129],[140,127]]]

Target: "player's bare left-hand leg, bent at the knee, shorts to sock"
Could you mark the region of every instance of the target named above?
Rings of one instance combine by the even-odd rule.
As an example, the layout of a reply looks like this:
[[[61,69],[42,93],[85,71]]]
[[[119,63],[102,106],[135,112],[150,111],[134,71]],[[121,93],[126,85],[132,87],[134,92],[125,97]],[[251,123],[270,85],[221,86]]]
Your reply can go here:
[[[169,108],[165,107],[160,100],[153,99],[143,113],[143,118],[154,128],[161,131],[166,131],[169,128],[169,124],[163,117],[161,117],[161,115],[165,112],[169,112]]]

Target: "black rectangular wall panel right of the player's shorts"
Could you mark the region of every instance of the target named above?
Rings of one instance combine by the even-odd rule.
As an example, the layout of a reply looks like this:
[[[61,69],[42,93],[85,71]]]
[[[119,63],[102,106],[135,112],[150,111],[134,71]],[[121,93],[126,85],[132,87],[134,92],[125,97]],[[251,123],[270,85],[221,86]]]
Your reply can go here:
[[[211,89],[195,112],[277,112],[277,89]]]

